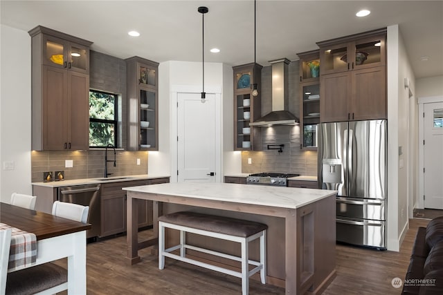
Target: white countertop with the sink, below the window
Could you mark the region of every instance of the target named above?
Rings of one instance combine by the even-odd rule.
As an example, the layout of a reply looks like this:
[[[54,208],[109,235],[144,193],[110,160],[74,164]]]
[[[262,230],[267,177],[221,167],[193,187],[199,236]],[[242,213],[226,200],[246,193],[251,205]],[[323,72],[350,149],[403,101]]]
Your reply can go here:
[[[51,181],[51,182],[32,182],[32,185],[40,187],[70,187],[73,185],[82,184],[99,184],[109,182],[125,182],[132,180],[148,180],[154,178],[168,178],[170,175],[153,175],[153,174],[141,174],[141,175],[122,175],[109,178],[82,178],[73,180]]]

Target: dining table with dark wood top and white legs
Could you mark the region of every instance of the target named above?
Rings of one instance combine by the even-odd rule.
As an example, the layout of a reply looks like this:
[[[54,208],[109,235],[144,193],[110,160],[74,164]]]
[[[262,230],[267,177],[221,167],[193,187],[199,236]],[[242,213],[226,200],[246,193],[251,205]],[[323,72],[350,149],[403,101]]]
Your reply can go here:
[[[35,234],[35,265],[67,258],[69,294],[86,294],[86,231],[91,225],[3,202],[0,222]]]

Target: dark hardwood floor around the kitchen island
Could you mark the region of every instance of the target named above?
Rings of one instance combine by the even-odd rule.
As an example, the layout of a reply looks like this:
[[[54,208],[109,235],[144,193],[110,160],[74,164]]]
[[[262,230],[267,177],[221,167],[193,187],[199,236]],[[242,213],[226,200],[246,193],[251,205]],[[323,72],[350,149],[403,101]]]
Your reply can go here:
[[[401,288],[392,287],[391,280],[404,279],[417,227],[426,227],[428,222],[410,220],[399,252],[336,245],[337,275],[324,294],[400,294]],[[168,258],[165,269],[159,270],[157,257],[150,249],[139,251],[141,263],[129,266],[125,238],[118,236],[87,246],[88,294],[241,294],[240,279],[233,276]],[[249,293],[284,294],[284,289],[250,280]]]

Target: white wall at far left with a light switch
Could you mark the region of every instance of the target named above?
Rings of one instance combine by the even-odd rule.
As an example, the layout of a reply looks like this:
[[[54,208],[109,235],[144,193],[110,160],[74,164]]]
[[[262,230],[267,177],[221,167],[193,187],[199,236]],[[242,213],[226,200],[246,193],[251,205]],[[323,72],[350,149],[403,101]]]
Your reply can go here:
[[[32,192],[31,144],[31,64],[28,32],[1,25],[0,76],[0,196],[9,202],[11,193]],[[13,170],[3,163],[14,162]]]

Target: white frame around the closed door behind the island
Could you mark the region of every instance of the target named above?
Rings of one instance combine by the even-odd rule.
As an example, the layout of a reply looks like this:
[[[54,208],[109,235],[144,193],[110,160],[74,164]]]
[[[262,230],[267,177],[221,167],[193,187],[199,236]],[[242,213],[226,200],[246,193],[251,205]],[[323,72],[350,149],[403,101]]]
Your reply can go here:
[[[206,94],[215,95],[215,182],[221,182],[223,171],[221,151],[223,149],[223,126],[221,124],[221,116],[223,115],[223,109],[221,108],[221,86],[205,86]],[[177,137],[179,131],[178,124],[178,104],[180,93],[201,93],[201,86],[199,85],[172,85],[170,92],[170,156],[171,156],[171,177],[170,182],[178,182],[177,170],[179,166],[179,144]]]

